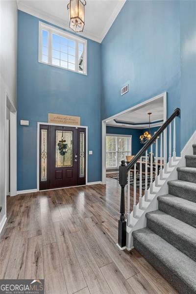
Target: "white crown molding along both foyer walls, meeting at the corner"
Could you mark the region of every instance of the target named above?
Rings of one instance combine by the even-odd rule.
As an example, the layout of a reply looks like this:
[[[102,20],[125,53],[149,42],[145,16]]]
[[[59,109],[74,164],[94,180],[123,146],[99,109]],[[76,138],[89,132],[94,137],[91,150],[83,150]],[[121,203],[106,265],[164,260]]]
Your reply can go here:
[[[100,36],[96,36],[96,35],[93,35],[92,33],[88,32],[88,31],[85,31],[83,32],[82,34],[77,34],[78,36],[80,37],[85,37],[85,38],[88,38],[88,39],[91,39],[93,41],[96,41],[98,43],[101,43],[102,40],[104,39],[105,35],[107,34],[108,30],[110,29],[111,25],[113,24],[113,22],[115,21],[117,15],[119,14],[119,12],[121,11],[124,3],[125,3],[126,0],[122,0],[119,2],[119,4],[116,6],[115,10],[113,11],[113,13],[111,14],[110,18],[108,19],[104,29],[103,29],[103,32],[100,34]],[[64,29],[67,29],[68,31],[72,31],[69,27],[69,24],[68,22],[66,21],[62,21],[60,18],[58,17],[54,17],[50,14],[46,14],[45,12],[43,11],[39,11],[37,9],[34,9],[22,2],[20,2],[20,0],[17,0],[17,5],[18,5],[18,9],[25,12],[25,13],[28,13],[30,15],[33,15],[43,21],[46,21],[50,24],[53,24],[53,25],[57,25],[61,28],[64,28]]]

